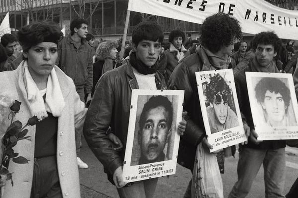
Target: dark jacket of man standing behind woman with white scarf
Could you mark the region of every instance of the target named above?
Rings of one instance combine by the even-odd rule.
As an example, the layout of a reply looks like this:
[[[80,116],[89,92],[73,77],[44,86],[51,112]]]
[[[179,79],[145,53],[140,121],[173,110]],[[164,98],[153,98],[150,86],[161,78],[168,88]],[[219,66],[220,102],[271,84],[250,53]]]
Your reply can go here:
[[[76,87],[83,85],[85,93],[91,93],[93,85],[93,58],[92,48],[86,40],[82,40],[82,45],[78,49],[70,36],[64,37],[59,41],[56,65],[73,79]]]

